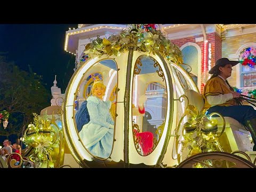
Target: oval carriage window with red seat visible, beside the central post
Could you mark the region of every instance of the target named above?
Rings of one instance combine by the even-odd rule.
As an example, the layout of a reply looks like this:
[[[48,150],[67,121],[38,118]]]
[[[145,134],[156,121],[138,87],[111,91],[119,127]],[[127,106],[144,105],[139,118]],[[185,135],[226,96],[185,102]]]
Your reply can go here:
[[[135,62],[132,87],[132,131],[135,148],[147,156],[161,139],[166,118],[166,82],[159,63],[146,55]]]

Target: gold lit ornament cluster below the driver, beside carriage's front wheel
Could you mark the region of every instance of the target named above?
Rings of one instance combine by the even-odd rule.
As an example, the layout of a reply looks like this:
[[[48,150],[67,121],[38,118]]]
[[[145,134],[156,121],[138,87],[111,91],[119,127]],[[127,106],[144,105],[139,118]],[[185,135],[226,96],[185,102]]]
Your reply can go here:
[[[193,105],[188,105],[185,110],[188,121],[184,125],[186,134],[183,135],[184,140],[181,141],[181,150],[187,148],[188,157],[202,152],[222,151],[218,136],[215,134],[218,130],[217,120],[205,115],[206,110],[199,112]]]

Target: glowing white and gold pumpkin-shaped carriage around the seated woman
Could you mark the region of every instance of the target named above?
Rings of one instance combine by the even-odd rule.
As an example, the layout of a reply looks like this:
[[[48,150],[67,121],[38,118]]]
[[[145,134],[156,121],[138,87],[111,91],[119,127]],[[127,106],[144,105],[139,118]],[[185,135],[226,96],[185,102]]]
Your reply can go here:
[[[195,110],[193,105],[188,105],[185,92],[192,90],[198,93],[198,88],[181,67],[185,64],[179,47],[171,43],[155,25],[129,25],[120,34],[91,39],[80,59],[62,105],[67,145],[80,166],[179,167],[182,161],[195,154],[203,154],[205,159],[200,156],[203,164],[214,157],[209,165],[214,166],[212,162],[218,158],[215,154],[211,156],[211,153],[220,151],[220,159],[227,157],[225,161],[233,159],[237,166],[245,164],[245,167],[253,167],[244,158],[214,147],[219,145],[218,137],[225,129],[223,118],[222,130],[217,133],[217,122],[210,118],[211,115],[205,117],[202,114],[200,118],[196,116],[197,112],[191,115],[191,111]],[[79,137],[80,129],[75,118],[79,106],[92,94],[95,79],[100,79],[107,87],[103,100],[112,102],[115,128],[112,150],[107,158],[94,156],[85,147]],[[144,111],[137,113],[135,109]],[[190,114],[188,117],[187,113]],[[186,125],[196,127],[194,138],[204,142],[210,138],[212,145],[197,145],[197,152],[195,147],[186,146],[189,143],[189,137],[185,136]],[[202,131],[204,134],[201,134]],[[140,134],[148,132],[153,135],[150,141],[140,137]],[[148,143],[151,143],[151,147],[148,147]]]

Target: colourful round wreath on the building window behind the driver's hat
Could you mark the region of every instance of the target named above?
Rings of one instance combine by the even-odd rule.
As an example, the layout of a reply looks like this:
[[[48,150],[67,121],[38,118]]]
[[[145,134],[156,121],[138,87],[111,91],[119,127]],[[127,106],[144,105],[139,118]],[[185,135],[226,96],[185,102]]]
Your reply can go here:
[[[239,56],[239,62],[242,63],[243,66],[254,66],[255,65],[255,56],[256,56],[256,49],[255,47],[247,47],[245,48]]]

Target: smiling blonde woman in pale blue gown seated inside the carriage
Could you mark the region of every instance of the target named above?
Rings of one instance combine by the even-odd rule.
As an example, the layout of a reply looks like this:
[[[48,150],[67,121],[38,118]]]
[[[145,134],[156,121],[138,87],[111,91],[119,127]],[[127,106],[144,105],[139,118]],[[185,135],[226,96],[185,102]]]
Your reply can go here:
[[[94,81],[92,96],[87,98],[90,122],[79,132],[84,146],[92,155],[101,158],[110,156],[114,138],[114,121],[109,111],[111,102],[102,100],[105,91],[102,81]]]

